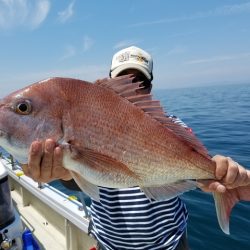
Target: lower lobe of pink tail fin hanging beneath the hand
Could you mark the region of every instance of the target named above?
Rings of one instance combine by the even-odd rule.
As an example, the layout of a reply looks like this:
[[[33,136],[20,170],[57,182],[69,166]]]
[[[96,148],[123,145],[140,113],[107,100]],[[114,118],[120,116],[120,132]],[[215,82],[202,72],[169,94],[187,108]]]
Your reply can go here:
[[[225,234],[229,232],[229,217],[234,205],[239,201],[234,190],[227,190],[225,193],[213,193],[218,222]]]

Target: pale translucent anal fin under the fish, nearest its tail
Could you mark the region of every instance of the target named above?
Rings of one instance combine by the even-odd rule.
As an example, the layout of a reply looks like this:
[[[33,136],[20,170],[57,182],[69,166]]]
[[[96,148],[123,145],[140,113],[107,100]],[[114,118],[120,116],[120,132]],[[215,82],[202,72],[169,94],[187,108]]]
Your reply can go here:
[[[161,201],[174,198],[184,192],[195,189],[196,181],[184,180],[159,187],[141,187],[141,190],[149,199]]]

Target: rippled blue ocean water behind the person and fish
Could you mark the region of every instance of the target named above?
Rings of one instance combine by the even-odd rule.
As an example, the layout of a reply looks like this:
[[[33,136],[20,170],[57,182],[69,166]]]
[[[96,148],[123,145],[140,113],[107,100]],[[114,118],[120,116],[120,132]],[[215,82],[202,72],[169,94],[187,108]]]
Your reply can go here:
[[[250,84],[156,90],[154,98],[191,127],[211,155],[230,156],[250,167]],[[52,185],[78,196],[58,181]],[[238,203],[233,209],[228,236],[219,228],[210,194],[195,190],[182,199],[189,211],[192,250],[250,250],[250,202]]]

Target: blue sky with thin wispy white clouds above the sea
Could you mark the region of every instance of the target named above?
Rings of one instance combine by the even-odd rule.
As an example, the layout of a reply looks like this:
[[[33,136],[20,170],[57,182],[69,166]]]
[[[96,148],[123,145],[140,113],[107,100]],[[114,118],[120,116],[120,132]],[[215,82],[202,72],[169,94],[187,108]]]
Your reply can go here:
[[[250,83],[250,1],[0,0],[0,97],[106,77],[130,45],[152,54],[156,89]]]

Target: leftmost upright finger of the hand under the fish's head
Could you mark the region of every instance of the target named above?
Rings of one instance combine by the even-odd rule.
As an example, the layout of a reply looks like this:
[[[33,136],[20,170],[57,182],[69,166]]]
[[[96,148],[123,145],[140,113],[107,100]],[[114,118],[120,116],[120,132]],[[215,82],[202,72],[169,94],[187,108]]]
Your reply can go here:
[[[38,181],[40,178],[40,163],[42,159],[43,152],[42,143],[39,141],[34,141],[29,150],[29,158],[28,158],[28,167],[27,171],[30,173],[30,176]]]

